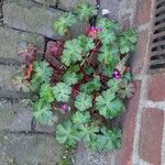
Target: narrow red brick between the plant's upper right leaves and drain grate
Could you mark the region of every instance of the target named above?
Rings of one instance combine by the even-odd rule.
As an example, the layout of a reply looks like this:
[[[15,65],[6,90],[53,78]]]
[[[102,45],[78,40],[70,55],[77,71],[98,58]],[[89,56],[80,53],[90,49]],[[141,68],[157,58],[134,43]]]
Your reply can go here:
[[[144,30],[141,31],[139,42],[136,45],[136,52],[132,56],[131,65],[132,65],[132,72],[134,75],[138,75],[142,72],[143,65],[145,63],[145,52],[147,46],[147,36],[148,31]]]

